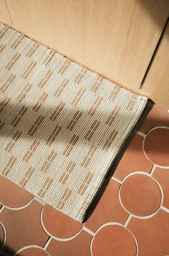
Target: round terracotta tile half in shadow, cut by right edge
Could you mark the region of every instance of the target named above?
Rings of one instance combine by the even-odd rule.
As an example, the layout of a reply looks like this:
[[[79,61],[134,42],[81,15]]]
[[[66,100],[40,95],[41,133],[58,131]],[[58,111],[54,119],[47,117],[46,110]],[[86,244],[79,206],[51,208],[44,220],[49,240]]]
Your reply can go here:
[[[169,127],[150,130],[143,142],[148,160],[160,166],[169,166]]]

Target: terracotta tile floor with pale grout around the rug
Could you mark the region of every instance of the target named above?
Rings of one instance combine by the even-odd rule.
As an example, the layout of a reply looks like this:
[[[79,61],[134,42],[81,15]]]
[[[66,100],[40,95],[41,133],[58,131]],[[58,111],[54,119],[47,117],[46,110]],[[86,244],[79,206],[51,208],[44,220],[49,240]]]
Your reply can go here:
[[[169,113],[153,106],[90,219],[69,218],[0,176],[0,255],[169,255]]]

